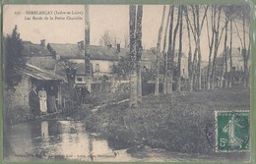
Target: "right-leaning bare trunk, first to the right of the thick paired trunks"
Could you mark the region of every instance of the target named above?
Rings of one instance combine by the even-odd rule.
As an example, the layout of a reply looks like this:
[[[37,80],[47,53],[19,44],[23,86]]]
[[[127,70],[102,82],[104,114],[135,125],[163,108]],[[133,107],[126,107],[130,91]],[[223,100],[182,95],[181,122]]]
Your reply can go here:
[[[161,33],[162,33],[164,16],[165,16],[165,5],[163,6],[163,9],[162,9],[159,38],[158,38],[158,44],[157,44],[157,77],[156,77],[156,83],[155,83],[155,95],[160,94],[160,41],[161,41]]]

